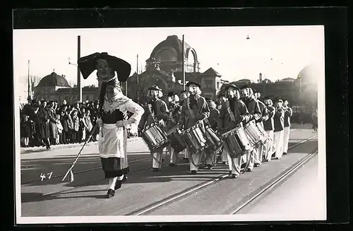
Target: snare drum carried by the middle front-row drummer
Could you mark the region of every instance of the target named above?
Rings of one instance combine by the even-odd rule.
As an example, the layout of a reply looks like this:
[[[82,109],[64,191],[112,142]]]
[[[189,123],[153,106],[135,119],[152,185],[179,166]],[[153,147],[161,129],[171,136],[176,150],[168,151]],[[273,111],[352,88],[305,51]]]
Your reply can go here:
[[[191,126],[189,129],[186,129],[182,132],[181,137],[186,144],[189,154],[191,155],[201,152],[210,146],[210,141],[208,141],[201,124],[196,124]]]

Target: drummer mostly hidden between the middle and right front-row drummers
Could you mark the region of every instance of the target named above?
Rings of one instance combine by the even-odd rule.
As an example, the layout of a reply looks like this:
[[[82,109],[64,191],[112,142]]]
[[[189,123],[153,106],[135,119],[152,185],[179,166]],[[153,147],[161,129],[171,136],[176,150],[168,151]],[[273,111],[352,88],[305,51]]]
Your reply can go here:
[[[218,122],[218,117],[220,115],[220,111],[216,109],[216,104],[213,100],[210,98],[205,98],[208,108],[210,109],[210,117],[208,119],[205,119],[207,121],[206,123],[210,124],[211,128],[214,131],[217,131],[217,122]],[[203,167],[205,170],[212,170],[213,166],[217,164],[217,153],[212,150],[207,150],[206,152],[206,165]]]

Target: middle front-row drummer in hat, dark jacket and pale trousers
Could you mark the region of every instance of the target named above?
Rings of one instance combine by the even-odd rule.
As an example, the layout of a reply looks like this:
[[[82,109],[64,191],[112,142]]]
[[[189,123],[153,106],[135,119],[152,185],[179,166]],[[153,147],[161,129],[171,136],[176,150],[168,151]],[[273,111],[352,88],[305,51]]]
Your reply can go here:
[[[203,126],[203,119],[208,118],[210,115],[206,100],[201,96],[200,87],[200,84],[196,82],[186,84],[186,88],[189,88],[190,96],[184,100],[179,117],[179,126],[183,126],[184,130],[191,128],[196,123],[200,123]],[[189,161],[191,174],[197,174],[201,155],[201,152],[189,155],[189,158],[191,158],[191,161]]]

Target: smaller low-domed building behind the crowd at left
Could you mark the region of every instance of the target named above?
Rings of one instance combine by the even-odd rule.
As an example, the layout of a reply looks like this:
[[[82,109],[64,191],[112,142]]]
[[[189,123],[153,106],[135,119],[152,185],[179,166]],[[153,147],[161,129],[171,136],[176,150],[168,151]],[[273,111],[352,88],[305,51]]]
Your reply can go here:
[[[34,89],[34,98],[37,100],[54,100],[61,102],[76,102],[78,100],[78,88],[72,88],[65,76],[58,75],[54,71],[44,76]],[[83,100],[97,100],[98,88],[82,88]]]

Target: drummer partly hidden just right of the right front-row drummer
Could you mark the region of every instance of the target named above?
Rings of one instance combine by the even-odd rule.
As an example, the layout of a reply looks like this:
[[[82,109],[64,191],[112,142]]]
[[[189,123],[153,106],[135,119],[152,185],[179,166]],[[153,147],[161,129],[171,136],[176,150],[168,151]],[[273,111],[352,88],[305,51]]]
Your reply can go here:
[[[258,120],[261,118],[261,110],[258,107],[258,102],[253,98],[253,89],[251,89],[248,85],[244,85],[241,87],[241,100],[246,105],[246,108],[249,110],[250,119],[251,120]],[[253,167],[258,167],[261,165],[261,160],[258,157],[257,150],[251,151],[251,153],[246,154],[246,162],[249,162],[249,167],[246,169],[247,172],[251,172]]]

